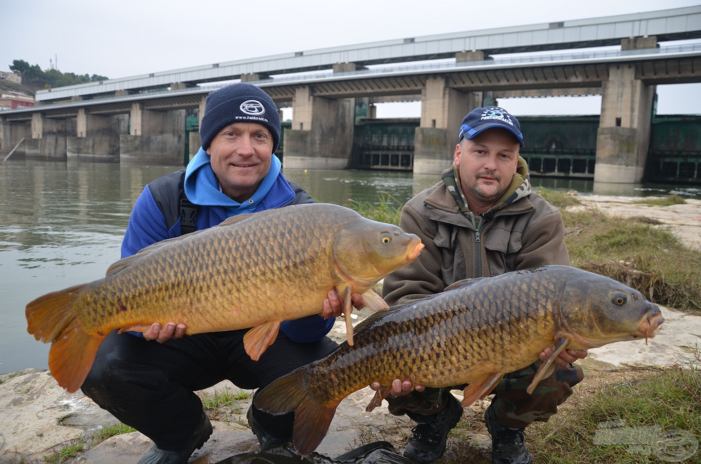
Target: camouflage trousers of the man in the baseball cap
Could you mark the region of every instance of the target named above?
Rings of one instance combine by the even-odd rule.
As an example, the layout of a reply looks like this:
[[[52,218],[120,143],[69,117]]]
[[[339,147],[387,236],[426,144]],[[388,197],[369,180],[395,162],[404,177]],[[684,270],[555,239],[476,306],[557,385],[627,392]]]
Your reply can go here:
[[[572,387],[584,378],[581,367],[557,367],[549,377],[538,383],[532,394],[529,394],[526,388],[536,376],[540,364],[542,361],[506,374],[491,391],[494,393],[492,409],[499,423],[511,428],[525,428],[533,421],[547,421],[557,412],[557,407],[572,394]],[[423,392],[412,391],[409,395],[387,397],[386,400],[391,414],[407,414],[418,423],[429,423],[447,404],[450,390],[463,388],[465,385],[426,388]]]

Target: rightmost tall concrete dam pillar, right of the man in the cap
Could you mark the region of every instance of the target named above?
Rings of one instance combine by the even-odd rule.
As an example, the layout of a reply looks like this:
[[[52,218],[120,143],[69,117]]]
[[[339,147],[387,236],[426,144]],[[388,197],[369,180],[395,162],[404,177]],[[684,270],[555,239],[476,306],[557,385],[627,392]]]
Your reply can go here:
[[[642,182],[650,143],[655,87],[632,64],[613,64],[601,93],[594,182]]]

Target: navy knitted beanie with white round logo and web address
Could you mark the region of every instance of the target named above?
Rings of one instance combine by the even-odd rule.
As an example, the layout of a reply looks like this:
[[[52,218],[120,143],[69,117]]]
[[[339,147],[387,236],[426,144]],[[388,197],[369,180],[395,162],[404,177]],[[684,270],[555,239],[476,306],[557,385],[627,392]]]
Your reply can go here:
[[[222,87],[207,95],[200,124],[202,148],[209,148],[217,132],[231,123],[259,123],[273,134],[273,153],[280,143],[280,115],[271,97],[247,83]]]

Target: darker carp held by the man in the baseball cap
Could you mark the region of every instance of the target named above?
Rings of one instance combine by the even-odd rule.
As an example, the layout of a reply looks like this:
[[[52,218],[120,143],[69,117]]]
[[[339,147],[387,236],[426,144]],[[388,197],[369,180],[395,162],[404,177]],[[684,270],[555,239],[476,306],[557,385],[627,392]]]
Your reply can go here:
[[[371,315],[355,327],[353,346],[343,343],[279,378],[254,404],[271,414],[294,411],[294,447],[306,456],[326,435],[341,400],[374,381],[383,387],[367,411],[381,404],[395,378],[427,387],[467,383],[468,406],[504,374],[529,366],[554,346],[529,385],[532,393],[562,350],[647,340],[663,321],[660,308],[637,290],[570,266],[462,280],[440,294]]]

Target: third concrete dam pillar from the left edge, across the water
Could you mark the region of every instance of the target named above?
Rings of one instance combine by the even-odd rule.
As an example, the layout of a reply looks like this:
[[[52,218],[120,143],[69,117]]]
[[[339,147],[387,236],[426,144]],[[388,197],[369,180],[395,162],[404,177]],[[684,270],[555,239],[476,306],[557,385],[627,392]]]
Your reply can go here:
[[[119,132],[111,116],[89,114],[78,109],[76,136],[66,139],[69,160],[119,163]]]

